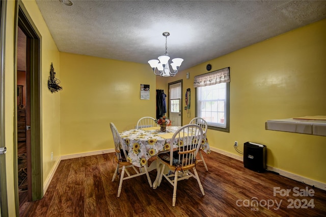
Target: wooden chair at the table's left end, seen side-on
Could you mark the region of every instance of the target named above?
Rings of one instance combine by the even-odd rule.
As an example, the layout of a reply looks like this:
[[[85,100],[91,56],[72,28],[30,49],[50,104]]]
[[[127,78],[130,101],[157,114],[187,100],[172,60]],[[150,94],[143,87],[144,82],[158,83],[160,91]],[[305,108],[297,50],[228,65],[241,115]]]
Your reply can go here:
[[[125,150],[124,146],[121,145],[123,143],[123,141],[119,135],[119,132],[113,123],[110,123],[110,127],[111,127],[115,150],[116,150],[115,160],[117,162],[117,167],[113,174],[112,181],[115,180],[117,174],[119,176],[119,171],[121,170],[120,183],[119,183],[119,187],[118,187],[117,197],[120,197],[120,193],[121,193],[121,189],[122,189],[122,182],[123,182],[123,180],[126,180],[126,179],[130,179],[130,178],[134,178],[134,177],[146,174],[148,183],[152,187],[152,181],[149,177],[149,174],[147,171],[147,166],[145,165],[142,167],[144,170],[138,171],[130,162],[127,161],[127,153],[128,152]],[[135,174],[131,175],[128,172],[127,168],[130,168],[130,167],[132,167],[132,169],[135,171]],[[126,177],[124,177],[125,172],[128,175]]]

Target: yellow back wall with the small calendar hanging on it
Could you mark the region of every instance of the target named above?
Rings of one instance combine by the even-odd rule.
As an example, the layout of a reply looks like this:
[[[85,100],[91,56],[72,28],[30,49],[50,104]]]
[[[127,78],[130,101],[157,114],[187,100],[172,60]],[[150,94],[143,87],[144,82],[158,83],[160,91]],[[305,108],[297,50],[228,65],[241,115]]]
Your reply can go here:
[[[110,123],[134,128],[143,116],[155,117],[155,75],[147,64],[60,53],[61,154],[114,148]],[[150,99],[140,99],[140,85]]]

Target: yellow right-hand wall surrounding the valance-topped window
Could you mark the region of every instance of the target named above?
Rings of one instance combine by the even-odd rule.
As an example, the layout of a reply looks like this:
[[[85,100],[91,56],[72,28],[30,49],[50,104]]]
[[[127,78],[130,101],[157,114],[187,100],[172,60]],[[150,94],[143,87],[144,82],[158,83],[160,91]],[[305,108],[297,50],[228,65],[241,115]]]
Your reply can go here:
[[[208,129],[209,144],[240,155],[247,141],[267,146],[267,165],[326,183],[326,137],[265,130],[270,119],[326,115],[326,20],[234,51],[183,70],[176,77],[157,77],[156,84],[183,79],[183,93],[192,89],[194,76],[230,67],[230,132]],[[181,66],[182,67],[182,66]],[[190,73],[190,79],[185,74]],[[188,123],[183,112],[183,123]]]

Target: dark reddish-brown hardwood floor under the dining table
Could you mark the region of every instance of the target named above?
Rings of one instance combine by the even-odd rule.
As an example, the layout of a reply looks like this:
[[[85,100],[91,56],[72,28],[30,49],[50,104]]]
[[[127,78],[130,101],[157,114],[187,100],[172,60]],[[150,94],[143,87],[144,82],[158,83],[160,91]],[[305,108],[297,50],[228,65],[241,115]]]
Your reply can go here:
[[[173,207],[173,186],[163,179],[152,189],[144,175],[123,181],[117,198],[113,156],[62,160],[43,199],[23,204],[20,216],[326,216],[325,191],[271,172],[251,171],[243,162],[215,152],[204,154],[208,172],[201,162],[196,167],[205,196],[194,178],[180,181]],[[156,170],[150,177],[155,180]],[[290,192],[274,195],[274,188]]]

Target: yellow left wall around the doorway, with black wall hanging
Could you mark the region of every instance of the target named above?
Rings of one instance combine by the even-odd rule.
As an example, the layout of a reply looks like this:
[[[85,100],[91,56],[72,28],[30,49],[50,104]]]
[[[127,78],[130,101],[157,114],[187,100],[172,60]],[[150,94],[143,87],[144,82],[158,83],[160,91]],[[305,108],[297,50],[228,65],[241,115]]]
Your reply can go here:
[[[35,1],[23,1],[24,7],[32,18],[37,30],[42,37],[41,46],[41,101],[42,101],[42,152],[43,152],[43,182],[48,179],[56,160],[60,157],[60,93],[51,94],[47,89],[47,79],[50,64],[56,67],[56,76],[60,78],[59,51],[54,43],[43,17]],[[5,55],[5,135],[7,167],[7,191],[9,216],[15,216],[15,194],[14,194],[14,26],[15,26],[15,2],[7,2],[6,18],[6,55]],[[51,160],[53,152],[53,160]]]

